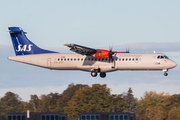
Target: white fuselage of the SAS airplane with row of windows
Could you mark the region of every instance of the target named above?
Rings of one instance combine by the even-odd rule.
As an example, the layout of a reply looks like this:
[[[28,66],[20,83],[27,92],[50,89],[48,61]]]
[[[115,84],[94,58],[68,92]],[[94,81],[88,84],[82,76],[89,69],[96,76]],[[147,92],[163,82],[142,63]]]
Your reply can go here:
[[[101,72],[116,70],[168,70],[176,66],[170,59],[158,59],[157,56],[165,56],[158,53],[117,53],[114,61],[107,58],[96,58],[80,54],[33,54],[8,57],[9,60],[27,63],[39,67],[55,70],[83,70]]]

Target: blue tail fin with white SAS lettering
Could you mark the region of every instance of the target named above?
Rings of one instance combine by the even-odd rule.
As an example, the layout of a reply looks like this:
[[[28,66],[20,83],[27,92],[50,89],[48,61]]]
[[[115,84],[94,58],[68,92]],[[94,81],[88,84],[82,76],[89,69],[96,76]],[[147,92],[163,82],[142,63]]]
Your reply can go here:
[[[8,29],[16,55],[57,53],[54,51],[44,50],[36,46],[33,42],[28,40],[25,32],[19,27],[9,27]]]

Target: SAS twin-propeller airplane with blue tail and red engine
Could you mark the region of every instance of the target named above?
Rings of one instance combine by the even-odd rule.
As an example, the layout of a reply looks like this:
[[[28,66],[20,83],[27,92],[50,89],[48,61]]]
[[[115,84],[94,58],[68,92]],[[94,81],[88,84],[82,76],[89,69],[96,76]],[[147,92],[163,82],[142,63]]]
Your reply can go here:
[[[59,53],[41,49],[26,37],[20,27],[9,27],[16,56],[9,60],[35,65],[51,70],[81,70],[91,72],[92,77],[100,73],[101,78],[107,72],[117,70],[168,70],[177,66],[165,54],[160,53],[129,53],[103,49],[93,49],[77,44],[64,44],[75,53]]]

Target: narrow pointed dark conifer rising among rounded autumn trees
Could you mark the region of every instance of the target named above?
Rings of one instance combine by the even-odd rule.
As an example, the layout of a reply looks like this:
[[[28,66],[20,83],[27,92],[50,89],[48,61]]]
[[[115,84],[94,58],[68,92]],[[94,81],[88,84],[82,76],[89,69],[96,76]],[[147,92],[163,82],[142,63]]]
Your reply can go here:
[[[127,95],[124,96],[124,101],[127,104],[124,112],[136,113],[137,111],[136,100],[132,92],[131,88],[129,88]]]

